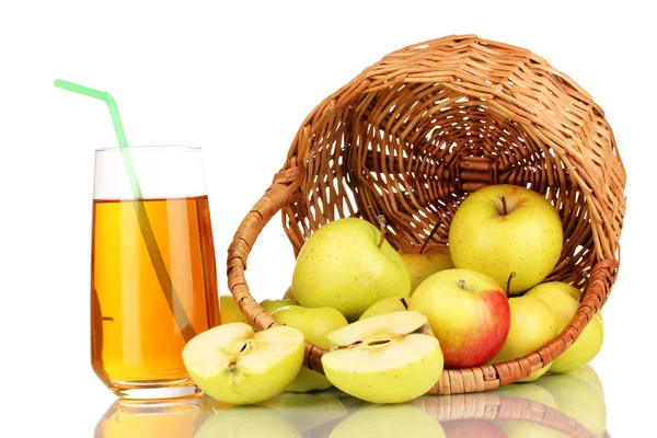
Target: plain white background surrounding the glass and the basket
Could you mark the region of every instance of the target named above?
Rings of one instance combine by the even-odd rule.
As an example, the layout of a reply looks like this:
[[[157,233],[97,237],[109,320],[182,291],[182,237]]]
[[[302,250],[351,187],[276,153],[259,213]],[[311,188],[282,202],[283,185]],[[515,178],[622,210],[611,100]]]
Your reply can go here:
[[[633,436],[654,416],[641,400],[656,379],[657,38],[649,2],[613,3],[0,3],[0,379],[12,423],[30,428],[19,436],[90,436],[114,400],[90,366],[89,268],[93,151],[115,138],[101,102],[54,79],[112,92],[131,145],[203,148],[221,275],[233,232],[314,105],[394,49],[464,33],[543,56],[614,129],[629,207],[593,366],[610,433]],[[292,266],[275,218],[250,257],[255,298],[280,296]]]

